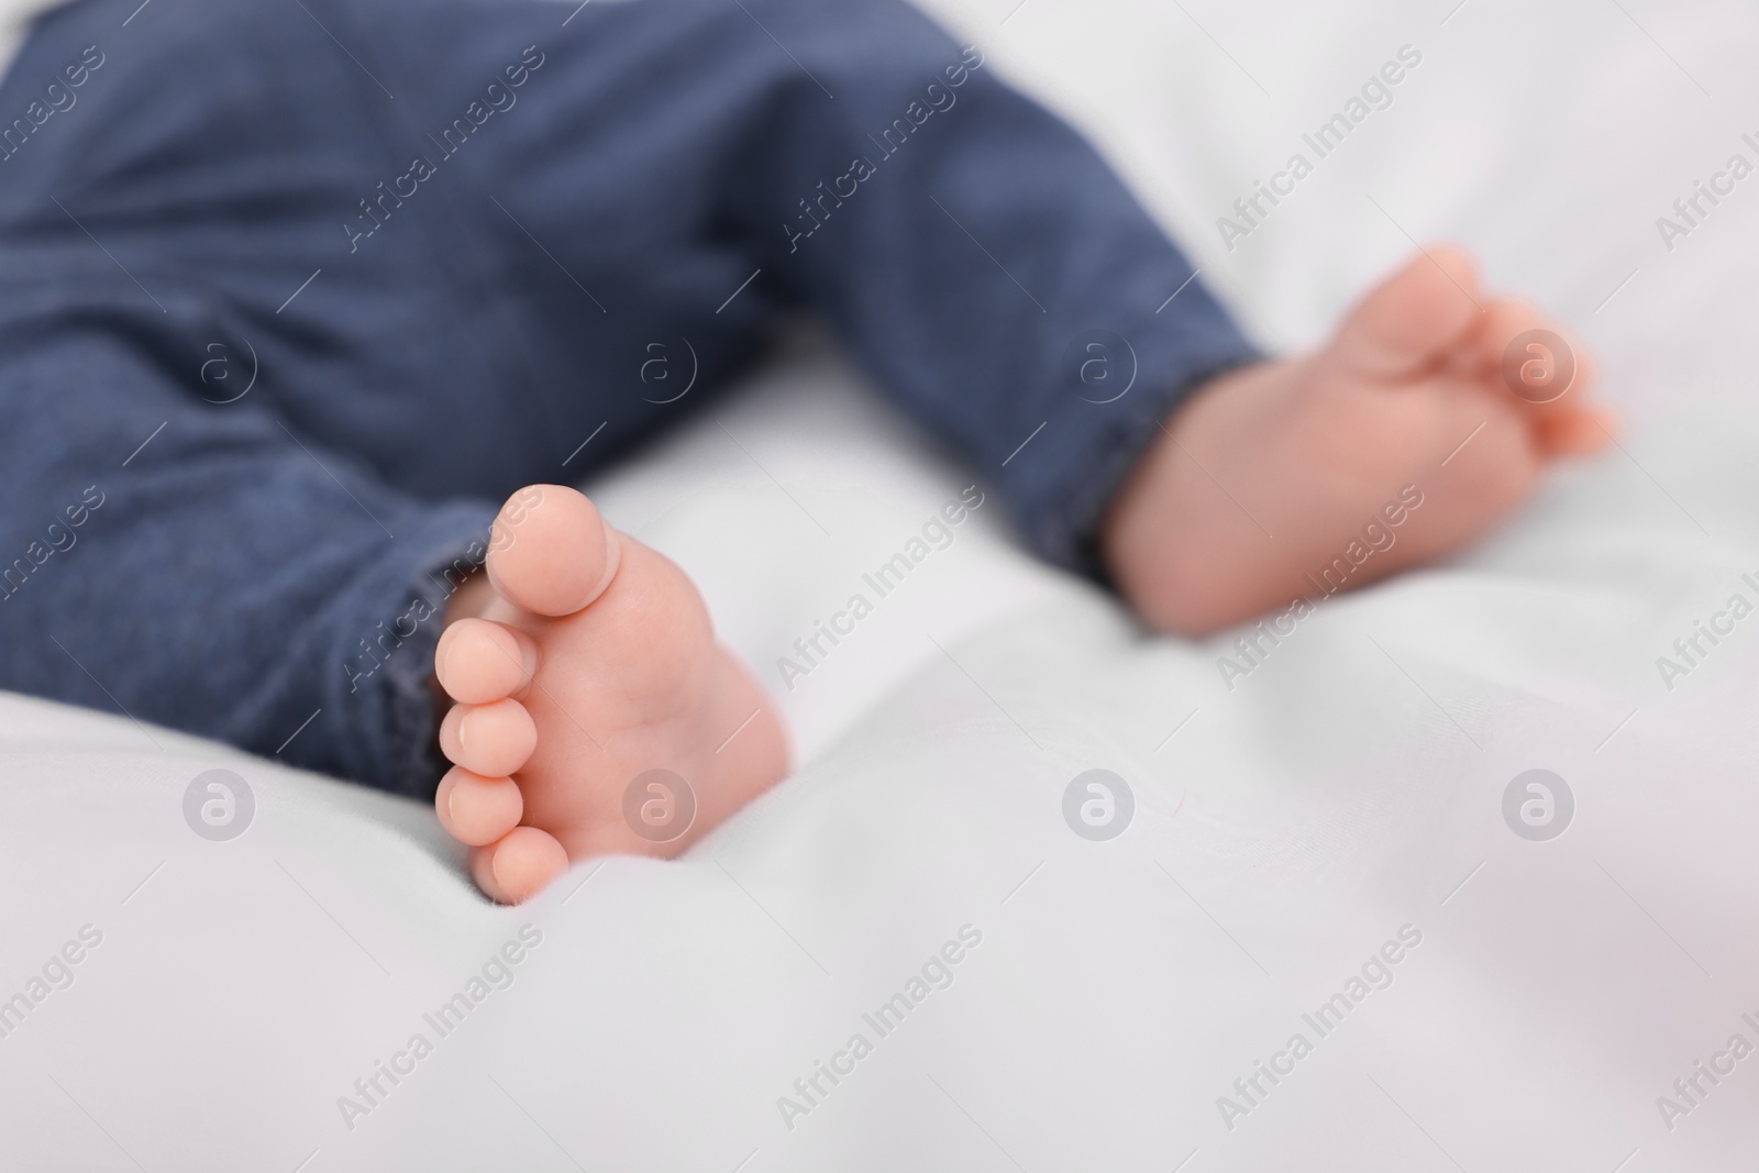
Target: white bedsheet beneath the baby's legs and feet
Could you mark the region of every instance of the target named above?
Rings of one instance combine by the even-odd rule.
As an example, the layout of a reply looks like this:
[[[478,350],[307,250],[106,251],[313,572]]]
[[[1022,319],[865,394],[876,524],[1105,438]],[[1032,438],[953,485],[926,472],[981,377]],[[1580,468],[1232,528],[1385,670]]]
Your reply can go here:
[[[1653,225],[1745,149],[1750,18],[1015,2],[952,18],[1268,341],[1312,338],[1407,234],[1463,239],[1601,348],[1624,448],[1453,565],[1326,601],[1231,689],[1230,638],[1145,638],[1013,550],[990,496],[781,691],[795,777],[682,862],[586,863],[521,909],[413,804],[5,698],[0,999],[72,981],[0,1038],[0,1164],[1752,1164],[1759,1053],[1729,1041],[1759,1046],[1759,619],[1671,689],[1657,658],[1759,601],[1759,195],[1673,251]],[[1402,44],[1393,106],[1226,251],[1214,218]],[[781,688],[793,638],[971,482],[804,346],[595,492]],[[183,818],[216,765],[257,797],[230,842]],[[1136,802],[1106,842],[1064,823],[1091,769]],[[1546,842],[1502,814],[1532,769],[1576,804]],[[510,985],[442,1036],[424,1015],[508,943]],[[1286,1073],[1254,1090],[1259,1060]],[[378,1062],[406,1073],[362,1094]]]

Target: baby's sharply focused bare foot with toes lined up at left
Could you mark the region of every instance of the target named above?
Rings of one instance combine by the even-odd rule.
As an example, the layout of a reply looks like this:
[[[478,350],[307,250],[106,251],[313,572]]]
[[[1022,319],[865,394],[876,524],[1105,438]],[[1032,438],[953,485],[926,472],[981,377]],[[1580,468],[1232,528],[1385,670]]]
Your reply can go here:
[[[697,587],[573,489],[514,494],[466,591],[434,652],[457,702],[434,804],[493,899],[593,855],[677,855],[786,770],[781,723]]]

